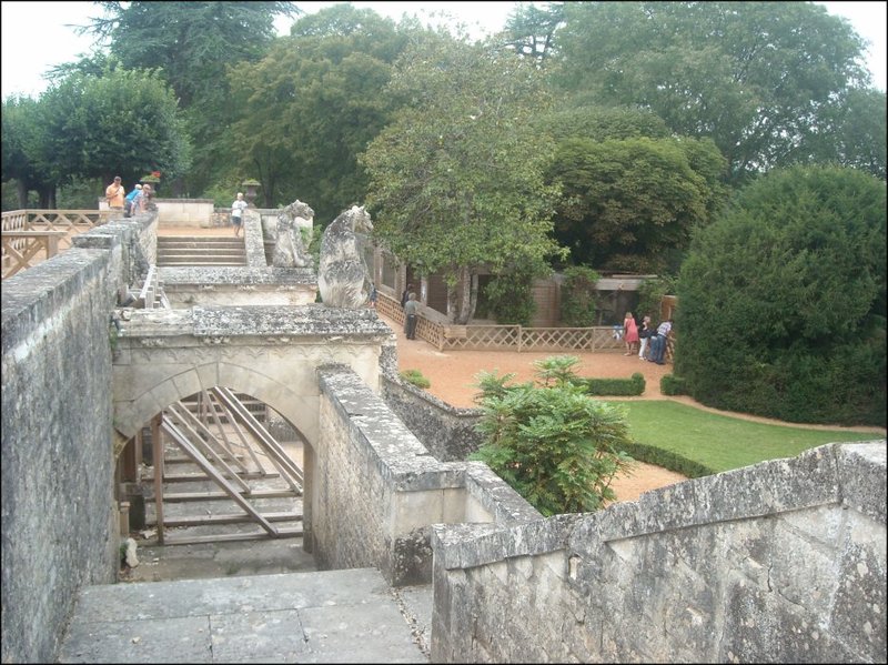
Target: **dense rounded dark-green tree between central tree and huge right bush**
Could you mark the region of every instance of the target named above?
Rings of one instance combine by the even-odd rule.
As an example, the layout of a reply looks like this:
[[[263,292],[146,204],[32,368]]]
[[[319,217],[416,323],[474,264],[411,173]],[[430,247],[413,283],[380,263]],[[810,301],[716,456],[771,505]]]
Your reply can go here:
[[[555,236],[576,263],[662,272],[718,208],[723,171],[712,142],[564,139],[548,173],[564,191]]]

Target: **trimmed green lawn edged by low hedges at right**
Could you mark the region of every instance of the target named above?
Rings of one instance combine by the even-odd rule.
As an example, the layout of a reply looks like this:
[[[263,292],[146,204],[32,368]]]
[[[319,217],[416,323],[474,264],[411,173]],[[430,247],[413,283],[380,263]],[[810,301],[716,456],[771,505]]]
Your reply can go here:
[[[795,457],[800,452],[825,443],[872,441],[880,433],[805,430],[787,425],[766,425],[694,409],[678,402],[607,400],[628,412],[629,434],[639,444],[669,451],[714,472],[738,468],[764,460]],[[629,451],[634,457],[659,464],[688,475],[682,464],[670,463],[673,455],[659,456]],[[679,466],[679,467],[675,467]]]

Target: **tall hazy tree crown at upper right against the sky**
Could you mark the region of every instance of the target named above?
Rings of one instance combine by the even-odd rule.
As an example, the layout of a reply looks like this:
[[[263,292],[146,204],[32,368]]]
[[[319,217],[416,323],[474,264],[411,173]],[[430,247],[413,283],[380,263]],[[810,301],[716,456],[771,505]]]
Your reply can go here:
[[[833,103],[868,81],[861,38],[813,2],[568,2],[565,22],[564,90],[712,137],[735,181],[807,158]]]

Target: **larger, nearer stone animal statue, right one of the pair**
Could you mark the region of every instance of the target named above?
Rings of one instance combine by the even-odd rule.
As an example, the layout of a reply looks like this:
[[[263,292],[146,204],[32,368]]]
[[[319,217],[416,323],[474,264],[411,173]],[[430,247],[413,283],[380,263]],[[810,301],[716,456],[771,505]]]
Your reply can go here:
[[[373,231],[370,213],[362,205],[344,211],[324,230],[317,290],[330,308],[362,308],[371,291],[370,271],[359,233]]]

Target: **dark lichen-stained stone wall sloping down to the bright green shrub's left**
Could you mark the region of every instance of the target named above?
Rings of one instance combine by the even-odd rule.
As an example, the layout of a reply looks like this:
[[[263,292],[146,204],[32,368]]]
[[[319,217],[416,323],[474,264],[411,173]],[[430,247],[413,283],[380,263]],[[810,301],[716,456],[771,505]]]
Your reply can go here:
[[[396,375],[383,376],[382,395],[437,460],[465,460],[481,445],[481,435],[475,432],[480,417],[476,409],[451,406]]]

